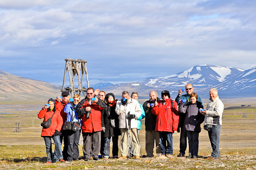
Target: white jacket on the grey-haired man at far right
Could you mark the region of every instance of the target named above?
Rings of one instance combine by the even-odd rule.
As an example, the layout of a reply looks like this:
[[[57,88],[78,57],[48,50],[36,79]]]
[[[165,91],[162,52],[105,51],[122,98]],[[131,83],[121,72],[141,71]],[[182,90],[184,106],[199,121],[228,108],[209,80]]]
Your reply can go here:
[[[224,104],[218,96],[209,101],[206,110],[204,125],[222,125]]]

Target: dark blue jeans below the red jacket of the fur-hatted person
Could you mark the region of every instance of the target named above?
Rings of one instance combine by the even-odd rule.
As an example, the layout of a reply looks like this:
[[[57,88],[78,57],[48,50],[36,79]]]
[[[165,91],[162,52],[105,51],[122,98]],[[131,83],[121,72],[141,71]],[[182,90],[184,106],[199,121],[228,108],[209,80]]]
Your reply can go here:
[[[159,136],[162,155],[172,155],[174,152],[174,148],[172,147],[172,132],[159,132]]]

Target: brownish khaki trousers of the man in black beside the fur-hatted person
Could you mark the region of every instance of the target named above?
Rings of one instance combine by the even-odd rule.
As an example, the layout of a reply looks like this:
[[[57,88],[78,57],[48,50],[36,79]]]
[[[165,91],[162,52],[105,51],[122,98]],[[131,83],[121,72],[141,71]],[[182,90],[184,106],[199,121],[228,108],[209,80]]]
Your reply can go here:
[[[154,130],[146,130],[147,156],[154,156],[154,146],[156,146],[156,155],[161,155],[159,132]]]

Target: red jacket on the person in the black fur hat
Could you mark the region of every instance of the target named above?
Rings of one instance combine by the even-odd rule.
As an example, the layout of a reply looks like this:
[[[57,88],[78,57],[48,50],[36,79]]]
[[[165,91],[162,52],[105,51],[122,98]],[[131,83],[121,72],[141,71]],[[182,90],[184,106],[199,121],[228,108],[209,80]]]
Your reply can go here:
[[[166,99],[166,102],[159,101],[158,105],[152,109],[152,114],[156,115],[155,131],[174,132],[179,125],[179,110],[177,103],[171,98]],[[172,106],[171,106],[172,103]]]

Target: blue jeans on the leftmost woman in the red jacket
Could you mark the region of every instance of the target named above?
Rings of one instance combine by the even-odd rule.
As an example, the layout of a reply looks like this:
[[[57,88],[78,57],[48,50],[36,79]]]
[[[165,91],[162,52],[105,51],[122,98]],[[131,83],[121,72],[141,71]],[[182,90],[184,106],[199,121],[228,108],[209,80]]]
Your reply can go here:
[[[55,152],[54,152],[54,161],[58,161],[63,159],[62,151],[61,151],[61,143],[60,143],[60,136],[43,136],[44,142],[46,143],[46,154],[48,157],[48,161],[52,162],[52,143],[51,138],[55,143]]]

